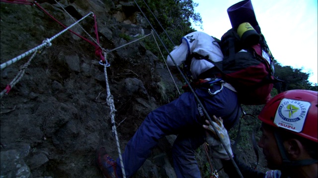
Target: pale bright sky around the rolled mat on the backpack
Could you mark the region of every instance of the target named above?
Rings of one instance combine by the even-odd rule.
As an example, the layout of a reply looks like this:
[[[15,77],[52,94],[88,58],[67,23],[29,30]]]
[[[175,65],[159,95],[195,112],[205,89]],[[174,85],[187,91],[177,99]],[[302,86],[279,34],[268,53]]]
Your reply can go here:
[[[193,0],[203,31],[221,39],[231,27],[227,8],[240,0]],[[252,0],[256,19],[275,59],[283,66],[311,73],[318,83],[317,0]]]

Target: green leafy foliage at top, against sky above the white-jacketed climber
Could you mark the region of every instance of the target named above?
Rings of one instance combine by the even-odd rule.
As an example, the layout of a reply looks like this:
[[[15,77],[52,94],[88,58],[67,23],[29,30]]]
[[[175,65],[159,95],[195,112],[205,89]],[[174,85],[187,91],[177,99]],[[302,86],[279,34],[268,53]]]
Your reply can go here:
[[[194,11],[198,4],[193,0],[137,0],[137,3],[168,50],[174,45],[179,45],[181,37],[195,31],[191,27],[191,20],[196,24],[202,24],[200,14]],[[157,41],[160,49],[164,49],[159,40]],[[146,40],[146,46],[159,56],[158,47],[153,41]],[[162,52],[163,56],[168,55],[167,51]]]

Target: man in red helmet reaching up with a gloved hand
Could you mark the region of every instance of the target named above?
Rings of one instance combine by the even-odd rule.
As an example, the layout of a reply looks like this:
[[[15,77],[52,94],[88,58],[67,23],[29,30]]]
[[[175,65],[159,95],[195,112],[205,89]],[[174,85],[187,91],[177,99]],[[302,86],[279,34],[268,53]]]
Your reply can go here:
[[[317,178],[318,177],[318,92],[311,90],[289,90],[272,98],[258,115],[262,121],[262,136],[258,146],[263,148],[267,167],[261,173],[251,169],[233,156],[244,178]],[[226,147],[232,153],[229,135],[221,118],[213,121],[218,132],[223,135]],[[213,157],[221,159],[224,171],[230,178],[238,178],[229,156],[220,141],[215,139],[209,121],[207,142],[213,150]],[[211,132],[209,132],[211,131]]]

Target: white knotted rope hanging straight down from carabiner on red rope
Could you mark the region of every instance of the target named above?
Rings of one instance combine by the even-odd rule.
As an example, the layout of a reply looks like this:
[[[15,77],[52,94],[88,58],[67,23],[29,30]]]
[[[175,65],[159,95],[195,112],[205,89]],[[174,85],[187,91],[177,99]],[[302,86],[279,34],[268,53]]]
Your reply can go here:
[[[107,57],[106,56],[106,52],[104,52],[104,57],[105,57],[105,60],[106,60],[106,57]],[[115,105],[114,105],[114,97],[110,93],[106,68],[107,68],[107,65],[104,64],[104,73],[105,73],[106,91],[107,91],[107,104],[110,107],[112,131],[113,131],[113,136],[115,136],[115,139],[116,139],[117,150],[118,150],[118,155],[119,155],[119,160],[120,160],[120,165],[121,165],[121,171],[123,173],[123,178],[126,178],[123,158],[121,156],[119,139],[118,139],[118,134],[117,134],[117,130],[116,130],[116,123],[115,123],[115,112],[116,112],[116,109],[115,109]]]

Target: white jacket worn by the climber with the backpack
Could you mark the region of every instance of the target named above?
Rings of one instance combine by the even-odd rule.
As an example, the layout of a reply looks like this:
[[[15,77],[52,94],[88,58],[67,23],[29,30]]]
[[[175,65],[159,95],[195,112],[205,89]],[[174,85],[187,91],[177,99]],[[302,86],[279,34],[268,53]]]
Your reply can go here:
[[[204,32],[192,32],[181,39],[181,45],[171,51],[170,55],[178,66],[186,60],[187,55],[193,52],[203,56],[208,55],[209,59],[214,62],[222,61],[223,54],[221,48],[214,41],[210,35]],[[167,64],[174,65],[169,55],[167,57]],[[214,64],[205,59],[191,59],[190,71],[193,79],[197,79],[201,73],[212,67],[214,67]]]

